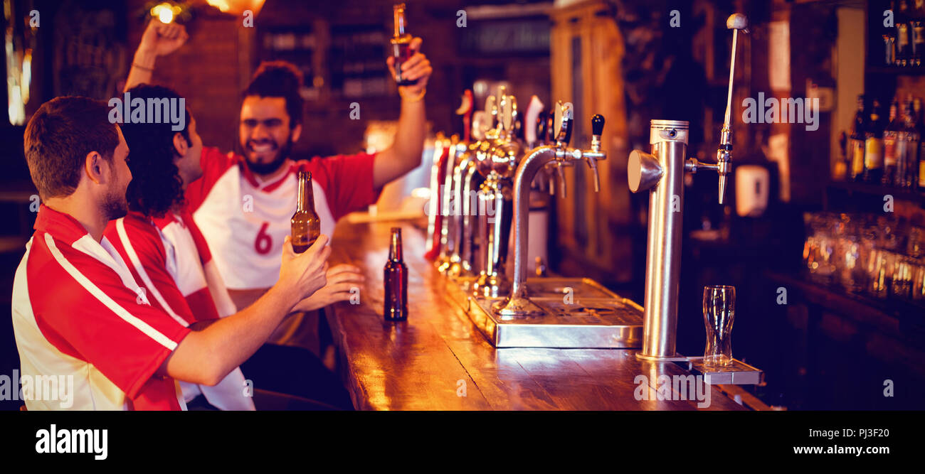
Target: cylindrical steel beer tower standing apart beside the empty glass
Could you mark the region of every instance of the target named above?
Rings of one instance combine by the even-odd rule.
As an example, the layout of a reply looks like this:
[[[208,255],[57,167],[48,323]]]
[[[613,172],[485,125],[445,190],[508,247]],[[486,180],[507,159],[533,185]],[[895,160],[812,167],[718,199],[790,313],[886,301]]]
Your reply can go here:
[[[736,13],[726,20],[733,30],[733,51],[729,67],[729,93],[716,164],[687,159],[688,123],[683,120],[652,120],[649,127],[650,153],[630,153],[626,175],[633,192],[651,189],[648,202],[648,241],[646,252],[646,302],[642,352],[639,359],[683,360],[675,352],[678,326],[678,277],[681,270],[681,226],[684,211],[684,174],[712,169],[720,176],[720,204],[726,188],[726,175],[732,169],[733,140],[731,113],[735,50],[738,30],[747,32],[745,15]]]

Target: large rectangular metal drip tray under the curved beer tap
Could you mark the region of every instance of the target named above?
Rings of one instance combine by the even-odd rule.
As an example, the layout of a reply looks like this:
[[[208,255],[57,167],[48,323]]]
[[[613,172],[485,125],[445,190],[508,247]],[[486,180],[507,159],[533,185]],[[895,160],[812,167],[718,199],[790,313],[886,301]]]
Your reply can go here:
[[[448,280],[448,296],[496,347],[627,348],[642,346],[642,307],[587,278],[527,280],[542,314],[504,321],[492,310],[503,298],[476,298],[473,278]],[[571,291],[568,290],[571,288]]]

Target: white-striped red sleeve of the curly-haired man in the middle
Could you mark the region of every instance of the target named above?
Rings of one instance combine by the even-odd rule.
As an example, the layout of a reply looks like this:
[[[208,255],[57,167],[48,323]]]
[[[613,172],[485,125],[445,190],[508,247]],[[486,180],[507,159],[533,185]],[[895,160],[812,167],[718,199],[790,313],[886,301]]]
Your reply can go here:
[[[119,229],[120,222],[125,230],[124,236]],[[166,311],[183,325],[217,318],[212,314],[193,314],[173,275],[167,272],[166,249],[154,225],[129,214],[123,219],[110,221],[105,237],[118,250],[135,281],[144,287],[145,297],[155,308]]]

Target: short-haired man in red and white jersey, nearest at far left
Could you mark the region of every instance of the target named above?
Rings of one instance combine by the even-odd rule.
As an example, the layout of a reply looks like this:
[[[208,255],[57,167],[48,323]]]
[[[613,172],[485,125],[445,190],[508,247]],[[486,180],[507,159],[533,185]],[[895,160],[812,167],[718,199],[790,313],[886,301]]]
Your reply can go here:
[[[73,387],[62,407],[59,394],[24,384],[29,409],[183,409],[177,381],[221,382],[326,283],[327,237],[302,254],[287,241],[277,285],[252,307],[191,331],[148,302],[104,237],[128,211],[131,181],[129,147],[105,103],[43,103],[24,144],[43,204],[13,284],[22,379],[66,377]]]

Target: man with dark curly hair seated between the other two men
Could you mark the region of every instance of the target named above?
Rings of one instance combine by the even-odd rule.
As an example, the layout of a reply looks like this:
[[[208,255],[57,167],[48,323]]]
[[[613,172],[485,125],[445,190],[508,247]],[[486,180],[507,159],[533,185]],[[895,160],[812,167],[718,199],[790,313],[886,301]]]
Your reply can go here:
[[[180,99],[176,91],[147,84],[135,86],[129,93],[133,99],[145,103],[178,103]],[[125,123],[120,127],[132,150],[129,169],[133,178],[127,191],[129,213],[110,221],[105,237],[129,264],[132,275],[155,307],[166,310],[185,326],[196,326],[214,322],[236,310],[211,251],[185,208],[184,189],[203,175],[199,160],[203,140],[196,132],[191,112],[187,109],[181,113],[185,114],[185,128],[163,121]],[[189,404],[197,395],[203,395],[204,400],[200,398],[192,406],[207,403],[219,409],[240,410],[254,409],[256,403],[256,408],[261,408],[262,397],[254,402],[250,396],[251,388],[259,388],[301,395],[327,407],[350,407],[349,402],[344,403],[349,395],[341,394],[341,383],[327,376],[323,367],[319,371],[320,364],[313,366],[312,360],[306,360],[310,359],[308,354],[289,350],[277,356],[267,354],[267,350],[271,349],[258,350],[258,359],[275,359],[277,365],[289,366],[285,381],[272,373],[246,371],[249,390],[243,390],[244,374],[235,370],[215,387],[180,383],[186,402]],[[295,380],[303,383],[296,384]],[[304,389],[293,393],[293,386]]]

